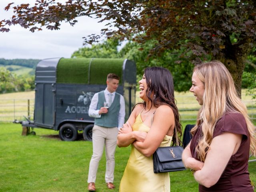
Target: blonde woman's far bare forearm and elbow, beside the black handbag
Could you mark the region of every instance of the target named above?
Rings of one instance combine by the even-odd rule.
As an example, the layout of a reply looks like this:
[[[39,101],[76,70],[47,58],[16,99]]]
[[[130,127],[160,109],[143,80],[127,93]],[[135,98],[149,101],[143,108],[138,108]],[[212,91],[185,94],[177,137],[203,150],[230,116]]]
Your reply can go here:
[[[204,166],[204,162],[198,161],[192,157],[190,151],[190,143],[188,144],[188,146],[186,146],[182,153],[182,162],[186,168],[192,170],[201,170],[202,167]]]

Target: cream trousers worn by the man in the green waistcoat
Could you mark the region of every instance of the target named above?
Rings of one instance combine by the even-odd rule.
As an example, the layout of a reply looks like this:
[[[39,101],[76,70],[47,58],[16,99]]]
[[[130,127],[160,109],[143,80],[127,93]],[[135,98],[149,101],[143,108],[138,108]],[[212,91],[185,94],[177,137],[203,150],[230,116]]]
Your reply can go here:
[[[95,182],[98,165],[103,154],[104,146],[106,153],[106,173],[105,181],[114,181],[115,169],[115,152],[118,128],[105,128],[94,125],[92,128],[92,158],[89,165],[89,173],[87,182]]]

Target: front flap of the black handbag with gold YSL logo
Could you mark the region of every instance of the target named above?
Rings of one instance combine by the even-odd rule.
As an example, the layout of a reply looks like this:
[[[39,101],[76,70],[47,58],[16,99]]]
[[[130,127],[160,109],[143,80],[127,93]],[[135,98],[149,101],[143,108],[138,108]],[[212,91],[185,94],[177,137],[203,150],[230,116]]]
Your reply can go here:
[[[156,154],[160,162],[177,161],[182,159],[183,150],[181,146],[158,147]]]

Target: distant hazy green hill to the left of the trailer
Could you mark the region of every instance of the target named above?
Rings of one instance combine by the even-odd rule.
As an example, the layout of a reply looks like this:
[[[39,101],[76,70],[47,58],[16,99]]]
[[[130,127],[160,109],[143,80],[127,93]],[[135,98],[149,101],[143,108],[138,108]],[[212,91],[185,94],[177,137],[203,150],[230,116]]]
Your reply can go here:
[[[18,76],[33,75],[40,60],[38,59],[4,59],[0,58],[0,67],[4,67]]]

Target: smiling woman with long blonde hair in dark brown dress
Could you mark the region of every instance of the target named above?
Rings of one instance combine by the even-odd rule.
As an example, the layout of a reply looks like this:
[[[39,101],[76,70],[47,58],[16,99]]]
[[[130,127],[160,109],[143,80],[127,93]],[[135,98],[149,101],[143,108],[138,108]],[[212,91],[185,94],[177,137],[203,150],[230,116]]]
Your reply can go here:
[[[182,160],[199,192],[253,192],[248,159],[250,150],[255,155],[255,128],[230,72],[219,61],[200,64],[190,91],[201,108]]]

